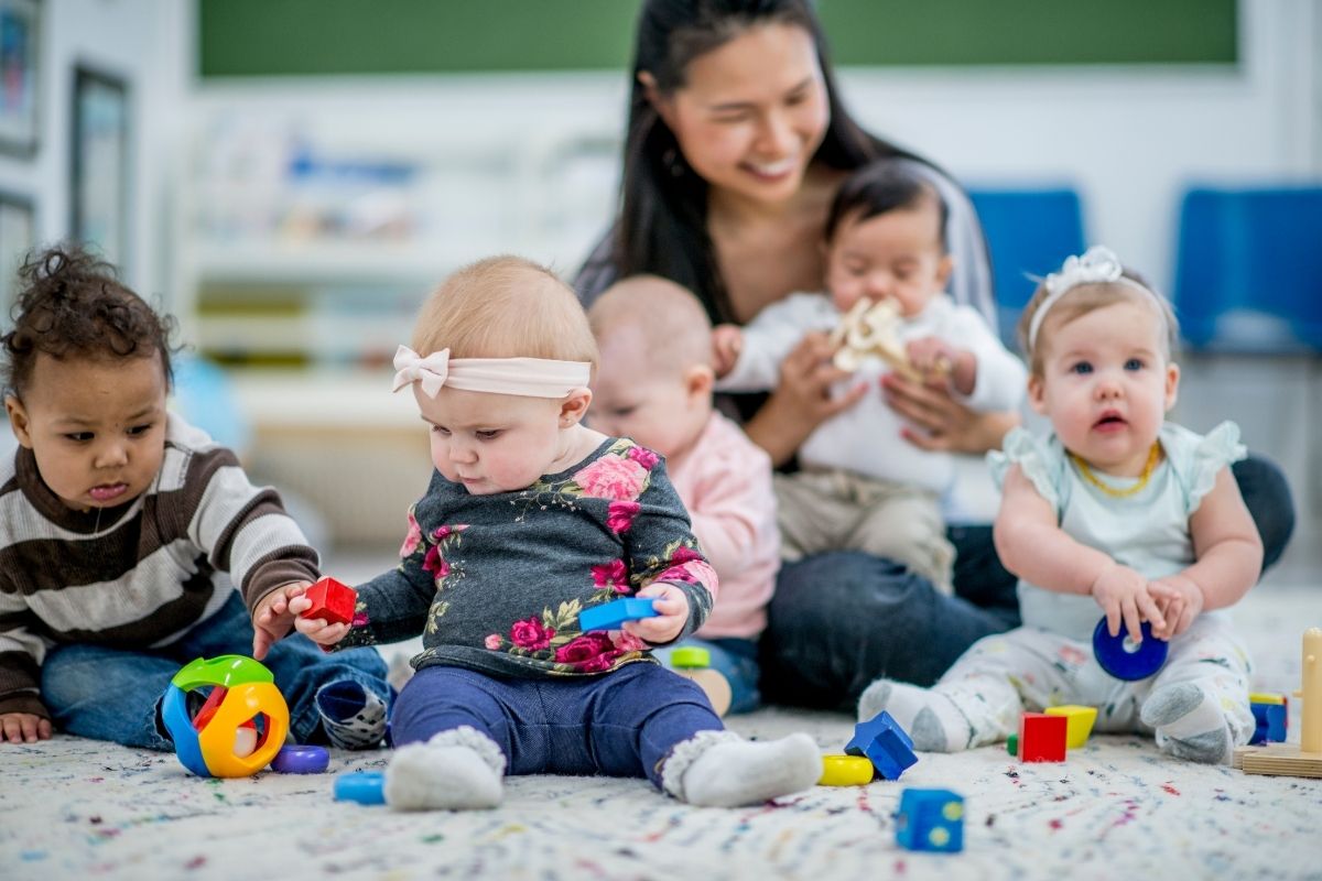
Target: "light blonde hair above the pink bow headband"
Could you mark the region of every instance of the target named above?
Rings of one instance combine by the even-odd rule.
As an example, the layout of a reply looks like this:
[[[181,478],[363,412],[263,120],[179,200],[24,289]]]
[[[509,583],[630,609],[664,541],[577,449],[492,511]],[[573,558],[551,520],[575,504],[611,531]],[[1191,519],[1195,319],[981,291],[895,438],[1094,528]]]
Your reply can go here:
[[[596,341],[578,297],[554,272],[501,255],[456,269],[418,313],[419,355],[586,361],[596,370]]]

